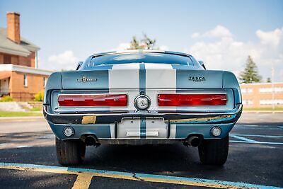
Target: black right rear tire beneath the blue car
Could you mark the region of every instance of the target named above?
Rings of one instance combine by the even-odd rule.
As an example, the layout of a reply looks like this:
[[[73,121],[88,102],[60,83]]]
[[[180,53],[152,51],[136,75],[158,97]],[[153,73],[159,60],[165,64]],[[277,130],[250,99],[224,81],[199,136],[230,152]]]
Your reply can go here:
[[[199,147],[200,162],[205,165],[222,166],[229,151],[229,135],[223,139],[204,139]]]

